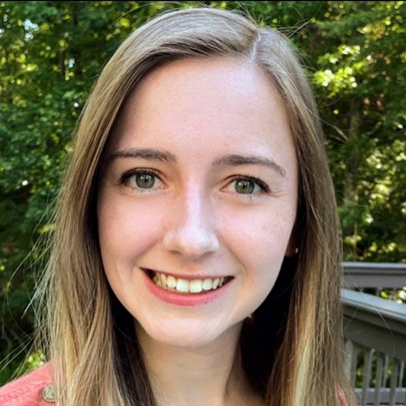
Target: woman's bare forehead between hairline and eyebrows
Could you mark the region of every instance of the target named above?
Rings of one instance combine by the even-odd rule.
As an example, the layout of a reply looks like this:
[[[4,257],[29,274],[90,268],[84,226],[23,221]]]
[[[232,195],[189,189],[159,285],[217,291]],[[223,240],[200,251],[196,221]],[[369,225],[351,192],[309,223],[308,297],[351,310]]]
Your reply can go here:
[[[184,146],[192,155],[219,146],[231,153],[293,149],[272,81],[258,66],[224,57],[176,60],[150,72],[127,100],[112,141],[113,152],[136,146],[174,153]]]

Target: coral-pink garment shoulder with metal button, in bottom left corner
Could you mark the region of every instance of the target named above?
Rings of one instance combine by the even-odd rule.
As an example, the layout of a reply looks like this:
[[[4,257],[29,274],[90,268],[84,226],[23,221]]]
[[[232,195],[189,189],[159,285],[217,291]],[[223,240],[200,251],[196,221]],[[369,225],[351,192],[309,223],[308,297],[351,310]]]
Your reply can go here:
[[[0,406],[51,406],[54,403],[51,364],[15,379],[0,388]]]

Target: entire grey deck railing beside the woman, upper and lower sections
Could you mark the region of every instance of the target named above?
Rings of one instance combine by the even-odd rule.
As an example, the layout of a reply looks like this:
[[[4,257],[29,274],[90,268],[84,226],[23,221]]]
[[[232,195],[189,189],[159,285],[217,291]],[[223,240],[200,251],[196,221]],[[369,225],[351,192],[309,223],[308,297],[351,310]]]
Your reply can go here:
[[[406,304],[362,291],[403,288],[406,264],[344,262],[343,267],[345,368],[358,403],[406,405]]]

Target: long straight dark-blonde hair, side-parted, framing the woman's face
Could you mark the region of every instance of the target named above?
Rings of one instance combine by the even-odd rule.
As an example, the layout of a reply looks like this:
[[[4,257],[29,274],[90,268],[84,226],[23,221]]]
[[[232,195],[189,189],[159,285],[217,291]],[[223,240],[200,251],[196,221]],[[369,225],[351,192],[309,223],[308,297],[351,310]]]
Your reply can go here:
[[[97,234],[103,154],[130,92],[158,65],[185,57],[258,65],[284,99],[299,167],[298,255],[241,333],[243,365],[266,405],[339,405],[341,248],[316,104],[289,41],[235,12],[162,14],[131,34],[107,63],[82,112],[55,212],[40,285],[42,340],[64,406],[155,405],[132,316],[111,293]],[[281,317],[275,307],[286,307]],[[279,312],[279,311],[278,311]],[[351,398],[351,395],[349,395]],[[352,401],[351,401],[352,402]]]

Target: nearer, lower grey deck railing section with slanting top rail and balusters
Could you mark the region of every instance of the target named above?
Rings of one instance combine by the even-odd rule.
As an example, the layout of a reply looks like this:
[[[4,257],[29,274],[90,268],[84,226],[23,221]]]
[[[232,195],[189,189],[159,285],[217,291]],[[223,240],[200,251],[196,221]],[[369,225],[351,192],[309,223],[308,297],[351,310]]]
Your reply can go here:
[[[345,370],[359,405],[406,405],[406,304],[349,289],[341,300]]]

